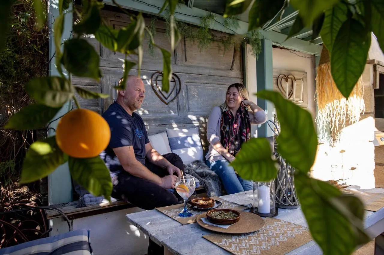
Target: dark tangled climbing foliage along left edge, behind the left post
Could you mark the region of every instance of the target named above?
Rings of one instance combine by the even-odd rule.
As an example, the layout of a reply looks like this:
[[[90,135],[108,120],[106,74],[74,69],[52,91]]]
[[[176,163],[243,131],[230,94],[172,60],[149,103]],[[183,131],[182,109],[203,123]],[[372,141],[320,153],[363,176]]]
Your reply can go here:
[[[17,131],[4,129],[4,125],[31,103],[25,85],[47,74],[48,27],[36,27],[32,0],[2,0],[0,31],[0,200],[7,203],[41,197],[37,185],[28,185],[26,191],[17,183],[26,148],[33,142],[30,137],[40,136],[46,127],[44,131]]]

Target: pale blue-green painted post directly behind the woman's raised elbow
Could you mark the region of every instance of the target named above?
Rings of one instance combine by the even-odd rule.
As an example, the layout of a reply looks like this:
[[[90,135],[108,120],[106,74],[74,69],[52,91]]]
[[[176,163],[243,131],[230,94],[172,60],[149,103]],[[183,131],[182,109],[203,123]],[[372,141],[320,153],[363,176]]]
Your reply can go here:
[[[256,61],[256,82],[257,92],[273,90],[272,41],[265,38],[262,39],[262,51]],[[273,104],[270,101],[257,98],[257,105],[266,112],[268,120],[273,121]],[[273,136],[273,132],[265,123],[257,128],[257,136]]]

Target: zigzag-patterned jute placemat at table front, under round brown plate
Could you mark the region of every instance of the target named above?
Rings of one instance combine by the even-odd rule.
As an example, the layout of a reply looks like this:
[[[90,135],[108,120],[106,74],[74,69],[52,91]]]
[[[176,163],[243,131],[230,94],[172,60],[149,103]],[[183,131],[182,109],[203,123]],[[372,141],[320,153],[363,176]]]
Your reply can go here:
[[[265,226],[256,232],[203,237],[236,255],[283,255],[313,240],[308,228],[268,217],[265,218]]]

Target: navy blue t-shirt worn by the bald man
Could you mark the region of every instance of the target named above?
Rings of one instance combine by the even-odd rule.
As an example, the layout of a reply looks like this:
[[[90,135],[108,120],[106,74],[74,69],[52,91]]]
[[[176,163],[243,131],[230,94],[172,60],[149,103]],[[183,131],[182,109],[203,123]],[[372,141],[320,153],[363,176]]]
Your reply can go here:
[[[145,165],[145,145],[149,143],[149,139],[140,115],[137,113],[129,115],[114,101],[102,116],[111,128],[111,140],[101,157],[109,168],[111,177],[126,172],[116,157],[114,148],[133,146],[136,159]]]

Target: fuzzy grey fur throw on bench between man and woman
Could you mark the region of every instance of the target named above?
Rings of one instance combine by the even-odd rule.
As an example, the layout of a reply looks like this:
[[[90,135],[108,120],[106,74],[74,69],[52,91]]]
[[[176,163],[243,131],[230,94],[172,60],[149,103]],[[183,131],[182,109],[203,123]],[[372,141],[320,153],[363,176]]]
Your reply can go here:
[[[200,181],[200,185],[203,185],[207,191],[207,196],[223,195],[223,187],[218,175],[210,170],[203,161],[195,160],[185,165],[184,171]]]

